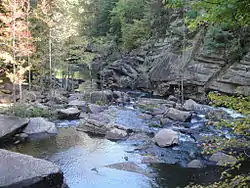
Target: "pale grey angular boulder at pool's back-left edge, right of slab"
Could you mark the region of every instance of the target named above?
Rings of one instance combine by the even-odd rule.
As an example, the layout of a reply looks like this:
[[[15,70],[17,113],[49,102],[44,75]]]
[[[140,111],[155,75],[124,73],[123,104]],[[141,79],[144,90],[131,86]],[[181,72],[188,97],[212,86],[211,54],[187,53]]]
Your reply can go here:
[[[57,134],[55,123],[52,123],[42,117],[31,118],[28,126],[23,130],[28,135],[47,135]]]

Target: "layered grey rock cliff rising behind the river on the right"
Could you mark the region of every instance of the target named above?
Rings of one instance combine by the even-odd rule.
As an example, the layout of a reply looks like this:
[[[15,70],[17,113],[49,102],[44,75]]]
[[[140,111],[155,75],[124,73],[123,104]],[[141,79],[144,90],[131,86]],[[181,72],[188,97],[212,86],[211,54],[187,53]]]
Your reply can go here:
[[[150,39],[112,61],[95,59],[92,65],[98,72],[97,83],[104,88],[142,89],[161,96],[178,96],[183,82],[185,97],[200,101],[213,90],[250,95],[250,35],[242,35],[242,45],[234,43],[234,34],[211,36],[211,27],[196,33],[185,30],[176,18],[164,38]],[[212,40],[220,46],[208,50],[207,41]],[[232,58],[232,54],[237,58]]]

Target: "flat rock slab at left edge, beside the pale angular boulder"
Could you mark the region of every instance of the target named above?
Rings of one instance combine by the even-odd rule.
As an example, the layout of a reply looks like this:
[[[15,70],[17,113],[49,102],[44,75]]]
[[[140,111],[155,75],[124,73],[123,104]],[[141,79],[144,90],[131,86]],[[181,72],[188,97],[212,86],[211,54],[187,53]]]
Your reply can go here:
[[[28,122],[28,119],[0,115],[0,143],[20,132]]]

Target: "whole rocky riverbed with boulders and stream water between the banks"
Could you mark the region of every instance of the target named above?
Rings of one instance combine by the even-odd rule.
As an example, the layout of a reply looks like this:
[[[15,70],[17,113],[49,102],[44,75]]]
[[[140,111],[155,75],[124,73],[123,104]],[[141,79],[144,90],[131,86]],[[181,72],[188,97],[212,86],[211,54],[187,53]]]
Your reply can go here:
[[[128,93],[100,91],[88,100],[83,100],[86,93],[71,94],[66,98],[68,104],[56,110],[57,120],[1,116],[5,125],[2,142],[11,140],[15,145],[7,149],[57,164],[72,188],[207,183],[219,175],[203,182],[196,176],[219,174],[219,166],[236,161],[224,153],[204,155],[201,151],[204,138],[234,137],[229,129],[212,125],[222,118],[240,118],[241,114],[191,99],[181,105],[174,96],[165,100]],[[48,104],[40,106],[49,108]],[[176,174],[170,178],[165,171]],[[178,172],[192,175],[179,182]]]

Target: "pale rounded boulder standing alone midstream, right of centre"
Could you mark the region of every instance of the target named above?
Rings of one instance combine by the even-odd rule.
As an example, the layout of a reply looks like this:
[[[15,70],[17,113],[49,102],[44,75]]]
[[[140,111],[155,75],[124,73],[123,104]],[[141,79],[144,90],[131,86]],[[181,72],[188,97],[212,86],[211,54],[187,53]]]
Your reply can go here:
[[[160,147],[168,147],[179,143],[179,134],[170,129],[160,130],[153,138]]]

